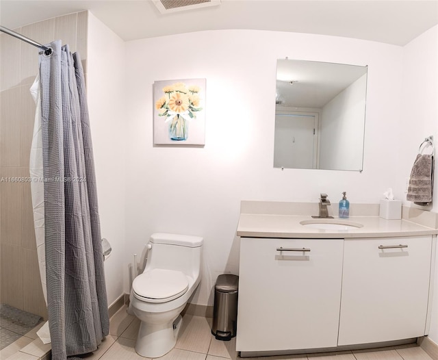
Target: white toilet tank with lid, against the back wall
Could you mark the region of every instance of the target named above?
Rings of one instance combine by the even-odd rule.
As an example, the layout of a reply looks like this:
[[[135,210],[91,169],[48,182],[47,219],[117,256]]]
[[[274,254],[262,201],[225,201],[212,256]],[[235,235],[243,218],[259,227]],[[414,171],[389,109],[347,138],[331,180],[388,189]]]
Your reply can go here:
[[[151,235],[146,268],[161,268],[181,271],[198,279],[201,272],[203,238],[191,235],[171,233],[153,233]]]

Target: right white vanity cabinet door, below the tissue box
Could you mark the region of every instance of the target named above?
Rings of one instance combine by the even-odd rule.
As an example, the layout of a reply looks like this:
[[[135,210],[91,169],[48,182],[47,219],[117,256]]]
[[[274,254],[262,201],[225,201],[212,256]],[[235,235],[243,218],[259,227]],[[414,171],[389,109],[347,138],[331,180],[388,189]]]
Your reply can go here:
[[[430,235],[345,241],[339,346],[424,335],[431,251]]]

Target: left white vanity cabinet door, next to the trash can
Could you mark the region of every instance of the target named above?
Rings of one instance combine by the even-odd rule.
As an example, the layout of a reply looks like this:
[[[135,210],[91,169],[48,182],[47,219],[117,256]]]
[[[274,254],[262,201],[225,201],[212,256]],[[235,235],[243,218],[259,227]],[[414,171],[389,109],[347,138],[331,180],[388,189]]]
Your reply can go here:
[[[337,345],[343,242],[242,237],[237,351]]]

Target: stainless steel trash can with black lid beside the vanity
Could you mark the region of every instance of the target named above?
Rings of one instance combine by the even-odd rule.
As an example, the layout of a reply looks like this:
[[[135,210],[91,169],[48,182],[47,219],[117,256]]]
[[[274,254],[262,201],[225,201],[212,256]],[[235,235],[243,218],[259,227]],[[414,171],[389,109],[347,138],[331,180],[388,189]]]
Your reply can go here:
[[[211,333],[218,340],[235,337],[237,324],[237,293],[239,277],[233,274],[218,276],[214,286],[213,326]]]

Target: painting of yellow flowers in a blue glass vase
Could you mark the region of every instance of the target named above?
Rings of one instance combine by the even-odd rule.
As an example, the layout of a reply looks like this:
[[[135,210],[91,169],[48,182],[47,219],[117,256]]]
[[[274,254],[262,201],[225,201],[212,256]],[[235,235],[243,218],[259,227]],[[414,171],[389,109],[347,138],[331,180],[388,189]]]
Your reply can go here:
[[[153,83],[154,144],[205,144],[205,83],[205,79]]]

